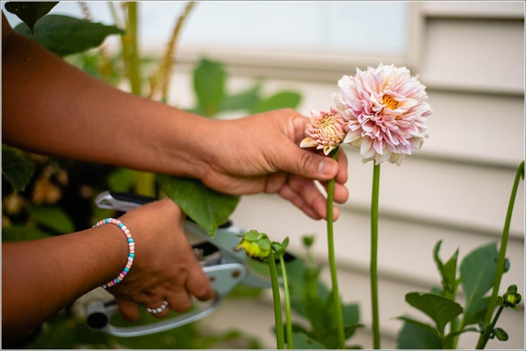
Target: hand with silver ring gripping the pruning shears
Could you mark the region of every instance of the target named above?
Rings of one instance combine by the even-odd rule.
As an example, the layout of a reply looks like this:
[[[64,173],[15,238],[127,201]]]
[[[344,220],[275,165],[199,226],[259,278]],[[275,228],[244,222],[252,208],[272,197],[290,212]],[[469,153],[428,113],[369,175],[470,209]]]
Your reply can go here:
[[[124,280],[108,288],[115,295],[120,313],[128,320],[139,318],[138,305],[168,307],[185,312],[191,307],[190,294],[199,300],[214,296],[214,290],[198,263],[183,231],[184,216],[170,199],[149,203],[127,212],[126,224],[134,241],[136,260]]]

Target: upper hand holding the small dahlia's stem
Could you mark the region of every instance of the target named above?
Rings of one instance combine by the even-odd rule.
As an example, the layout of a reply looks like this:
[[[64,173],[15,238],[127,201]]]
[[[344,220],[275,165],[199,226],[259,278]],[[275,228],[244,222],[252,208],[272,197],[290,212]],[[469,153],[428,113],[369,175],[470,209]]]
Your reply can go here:
[[[336,177],[334,200],[347,201],[347,158],[338,162],[313,149],[301,149],[309,119],[294,110],[276,110],[228,121],[215,121],[206,136],[211,143],[202,180],[231,194],[277,192],[313,219],[326,218],[326,199],[313,180],[324,187]],[[335,207],[334,218],[339,215]]]

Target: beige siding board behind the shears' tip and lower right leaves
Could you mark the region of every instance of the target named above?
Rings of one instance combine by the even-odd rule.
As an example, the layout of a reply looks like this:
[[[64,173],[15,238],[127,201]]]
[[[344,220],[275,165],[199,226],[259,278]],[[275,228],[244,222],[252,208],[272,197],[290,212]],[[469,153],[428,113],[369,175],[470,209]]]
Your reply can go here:
[[[232,215],[238,226],[246,230],[265,232],[274,240],[290,237],[290,250],[304,255],[301,236],[317,235],[313,252],[325,262],[327,245],[326,224],[307,218],[302,212],[277,195],[250,195],[242,197]],[[336,259],[342,269],[367,273],[370,257],[370,219],[368,215],[342,211],[334,225]],[[459,247],[463,257],[483,244],[497,242],[473,233],[448,231],[430,226],[397,220],[379,220],[378,271],[383,277],[417,284],[420,288],[440,285],[440,278],[432,260],[434,244],[443,240],[441,256],[447,260]],[[417,250],[415,250],[417,248]],[[502,285],[517,284],[524,288],[523,240],[510,241],[507,257],[510,271],[504,275]]]

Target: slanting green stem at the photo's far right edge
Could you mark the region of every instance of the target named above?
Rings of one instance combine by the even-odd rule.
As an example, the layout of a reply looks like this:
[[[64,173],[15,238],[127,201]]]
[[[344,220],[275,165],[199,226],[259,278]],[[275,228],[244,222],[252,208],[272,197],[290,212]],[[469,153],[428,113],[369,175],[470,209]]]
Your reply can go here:
[[[508,212],[506,214],[506,220],[504,221],[502,238],[500,240],[499,258],[497,261],[497,273],[495,273],[495,280],[493,281],[493,290],[491,291],[488,309],[484,318],[484,333],[480,335],[479,340],[477,342],[478,349],[483,349],[485,347],[490,337],[491,331],[493,330],[493,328],[489,328],[489,324],[491,316],[493,315],[493,310],[495,309],[495,305],[497,305],[497,296],[499,295],[500,281],[502,279],[502,274],[504,274],[504,260],[506,258],[506,246],[508,245],[508,235],[510,233],[511,214],[513,212],[513,205],[515,203],[515,195],[517,195],[517,188],[519,187],[519,180],[521,178],[521,174],[523,174],[524,172],[523,170],[524,161],[521,162],[519,168],[517,169],[517,174],[515,174],[515,181],[513,182],[513,187],[511,189],[510,202],[508,203]]]

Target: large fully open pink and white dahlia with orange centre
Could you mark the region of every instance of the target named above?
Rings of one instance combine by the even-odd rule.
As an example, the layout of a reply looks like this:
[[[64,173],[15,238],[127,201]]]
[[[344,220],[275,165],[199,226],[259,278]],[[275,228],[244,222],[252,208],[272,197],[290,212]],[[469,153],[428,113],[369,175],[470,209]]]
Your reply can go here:
[[[362,162],[400,165],[428,137],[432,110],[425,101],[426,87],[406,67],[357,68],[356,76],[343,76],[338,87],[332,98],[347,121],[344,142],[360,149]]]

